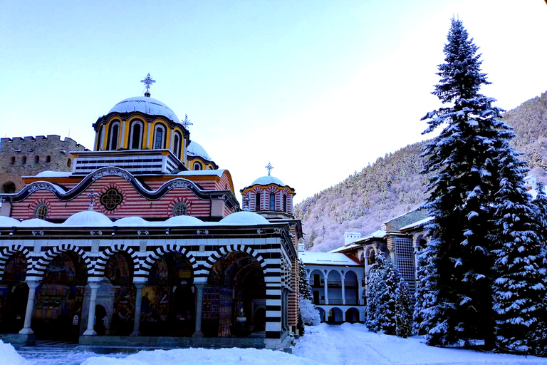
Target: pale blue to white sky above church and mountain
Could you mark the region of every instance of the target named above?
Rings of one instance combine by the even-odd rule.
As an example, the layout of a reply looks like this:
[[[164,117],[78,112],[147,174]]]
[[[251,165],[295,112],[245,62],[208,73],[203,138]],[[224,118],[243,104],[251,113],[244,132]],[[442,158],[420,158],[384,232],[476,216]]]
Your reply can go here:
[[[543,0],[3,1],[1,136],[93,148],[91,124],[150,72],[236,189],[271,162],[300,201],[424,139],[453,14],[496,106],[547,90]]]

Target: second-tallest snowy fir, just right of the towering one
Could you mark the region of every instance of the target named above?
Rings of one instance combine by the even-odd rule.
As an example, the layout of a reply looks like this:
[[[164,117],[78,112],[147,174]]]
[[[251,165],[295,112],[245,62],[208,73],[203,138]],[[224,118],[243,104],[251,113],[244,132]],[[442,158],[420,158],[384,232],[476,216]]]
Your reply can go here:
[[[536,353],[541,352],[540,332],[545,331],[547,315],[547,269],[536,233],[539,215],[523,183],[526,163],[507,142],[499,151],[496,163],[501,167],[501,183],[496,194],[497,245],[493,250],[496,340],[505,349]]]

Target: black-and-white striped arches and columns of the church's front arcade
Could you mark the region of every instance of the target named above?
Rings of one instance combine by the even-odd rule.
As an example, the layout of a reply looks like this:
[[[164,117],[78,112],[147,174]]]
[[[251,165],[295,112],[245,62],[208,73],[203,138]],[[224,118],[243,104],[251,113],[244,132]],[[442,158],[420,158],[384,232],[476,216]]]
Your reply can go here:
[[[238,317],[246,317],[248,321],[245,322],[246,324],[255,322],[255,327],[256,324],[259,324],[261,328],[255,328],[255,331],[260,332],[261,330],[266,348],[281,349],[286,347],[285,343],[288,341],[290,327],[294,325],[289,323],[288,306],[289,296],[295,287],[291,272],[293,264],[296,263],[296,252],[294,250],[291,252],[292,242],[283,228],[256,230],[254,227],[252,230],[254,238],[215,238],[220,236],[215,236],[213,230],[209,228],[207,233],[197,230],[197,232],[193,232],[193,235],[179,237],[175,232],[172,239],[152,239],[152,237],[145,236],[137,239],[124,237],[125,239],[114,240],[105,239],[110,235],[110,232],[101,232],[101,236],[97,235],[98,232],[95,232],[95,235],[91,232],[90,239],[74,240],[46,238],[48,232],[44,231],[38,233],[33,231],[31,233],[33,239],[23,237],[16,240],[14,240],[15,237],[2,233],[0,235],[0,290],[2,283],[4,283],[4,287],[8,288],[6,291],[13,290],[14,285],[17,284],[17,280],[14,281],[14,275],[9,271],[14,270],[16,261],[14,258],[18,259],[19,266],[23,267],[19,269],[19,277],[15,279],[19,279],[19,284],[25,283],[28,287],[26,309],[24,315],[22,313],[19,315],[22,322],[20,334],[33,334],[33,326],[35,323],[38,325],[36,322],[38,318],[41,318],[40,323],[48,322],[47,316],[51,311],[43,310],[43,313],[47,312],[48,314],[41,314],[41,311],[36,308],[36,301],[39,300],[42,307],[57,305],[56,310],[60,316],[63,313],[73,314],[75,311],[80,313],[80,334],[83,332],[83,336],[95,336],[97,334],[95,329],[98,328],[95,318],[100,318],[96,316],[95,308],[100,309],[98,304],[103,304],[108,300],[112,304],[114,302],[112,297],[118,296],[117,303],[121,303],[119,312],[133,317],[131,336],[140,336],[141,329],[145,329],[142,327],[142,320],[147,318],[145,312],[152,313],[156,310],[152,308],[150,296],[147,297],[145,292],[157,289],[157,287],[151,289],[150,286],[160,285],[157,282],[164,279],[170,280],[168,276],[171,275],[178,283],[183,284],[178,287],[166,284],[167,289],[164,292],[159,291],[158,303],[162,305],[157,307],[167,308],[167,306],[172,307],[173,305],[168,303],[171,299],[165,299],[162,295],[167,298],[178,296],[182,298],[181,300],[184,300],[185,295],[192,297],[192,300],[186,301],[189,306],[186,319],[192,317],[193,328],[185,333],[177,332],[175,336],[229,336],[230,332],[226,328],[236,323],[230,319],[233,317],[231,316],[233,313],[222,314],[222,309],[218,309],[218,306],[222,305],[224,293],[224,299],[231,303],[231,307],[238,313]],[[116,235],[118,233],[120,232],[117,232]],[[207,238],[201,238],[200,233],[201,236],[205,235]],[[146,235],[148,234],[149,232],[146,232]],[[37,235],[38,237],[36,237]],[[139,235],[141,235],[140,231]],[[253,237],[253,235],[247,232],[244,237]],[[6,240],[6,238],[9,239]],[[170,255],[175,258],[168,259]],[[114,257],[127,262],[127,267],[119,269],[119,265],[110,264]],[[72,266],[69,267],[66,262],[63,263],[63,260],[73,262]],[[170,260],[182,264],[178,264],[174,270],[170,267]],[[236,266],[237,270],[234,269]],[[67,267],[69,268],[65,270]],[[127,275],[125,271],[131,274]],[[21,272],[24,273],[21,274]],[[64,274],[65,272],[69,272],[75,277],[73,288],[76,289],[67,289],[66,292],[60,294],[56,292],[58,289],[51,287],[50,283],[59,277],[59,273]],[[118,279],[109,281],[105,277]],[[9,287],[10,283],[6,284],[4,279],[11,280],[11,287]],[[156,281],[154,282],[154,280]],[[214,283],[212,283],[213,281]],[[231,287],[229,289],[231,283],[245,284],[250,281],[264,282],[264,290],[261,292],[260,289],[253,289],[260,287],[259,284],[246,284],[245,288]],[[220,285],[214,286],[213,284]],[[53,289],[48,289],[48,285]],[[182,294],[178,294],[179,287]],[[217,293],[217,297],[214,297],[215,293]],[[48,300],[54,302],[48,298],[57,298],[60,295],[67,298],[62,304],[46,303]],[[108,299],[109,295],[110,299]],[[237,302],[238,300],[239,302]],[[127,310],[124,312],[123,307],[127,306],[131,307],[133,313]],[[77,309],[71,312],[71,307]],[[190,314],[190,310],[192,310],[192,314]],[[168,319],[167,312],[161,311],[160,308],[159,313],[155,313],[157,318]],[[156,310],[156,312],[158,311]],[[218,334],[215,331],[211,335],[210,331],[209,334],[204,331],[204,326],[207,327],[208,317],[206,314],[209,312],[221,312],[220,322],[222,323],[223,316],[226,319],[224,332],[219,329]],[[101,313],[101,315],[103,314]],[[112,313],[105,314],[105,318],[109,322],[105,323],[105,327],[112,325],[110,323],[111,315]],[[176,314],[180,321],[184,321],[185,315],[184,313]],[[74,321],[73,324],[78,321],[74,318],[70,320]],[[219,323],[218,321],[217,314],[217,323]],[[107,322],[106,319],[105,322]],[[156,324],[150,321],[150,325],[153,327]],[[103,330],[101,334],[109,333],[108,328]],[[204,334],[204,332],[206,333]],[[163,335],[165,336],[165,334]]]

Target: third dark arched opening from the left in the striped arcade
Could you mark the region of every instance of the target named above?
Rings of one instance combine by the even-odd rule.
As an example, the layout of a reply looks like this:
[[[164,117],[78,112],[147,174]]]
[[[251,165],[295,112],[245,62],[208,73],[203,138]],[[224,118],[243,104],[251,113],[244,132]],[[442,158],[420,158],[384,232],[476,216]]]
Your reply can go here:
[[[105,278],[113,285],[114,289],[114,300],[109,302],[112,307],[107,311],[111,316],[108,326],[110,334],[129,336],[135,320],[136,294],[135,285],[133,285],[131,257],[125,252],[116,252],[110,256],[105,264]],[[97,330],[95,329],[95,331]]]

